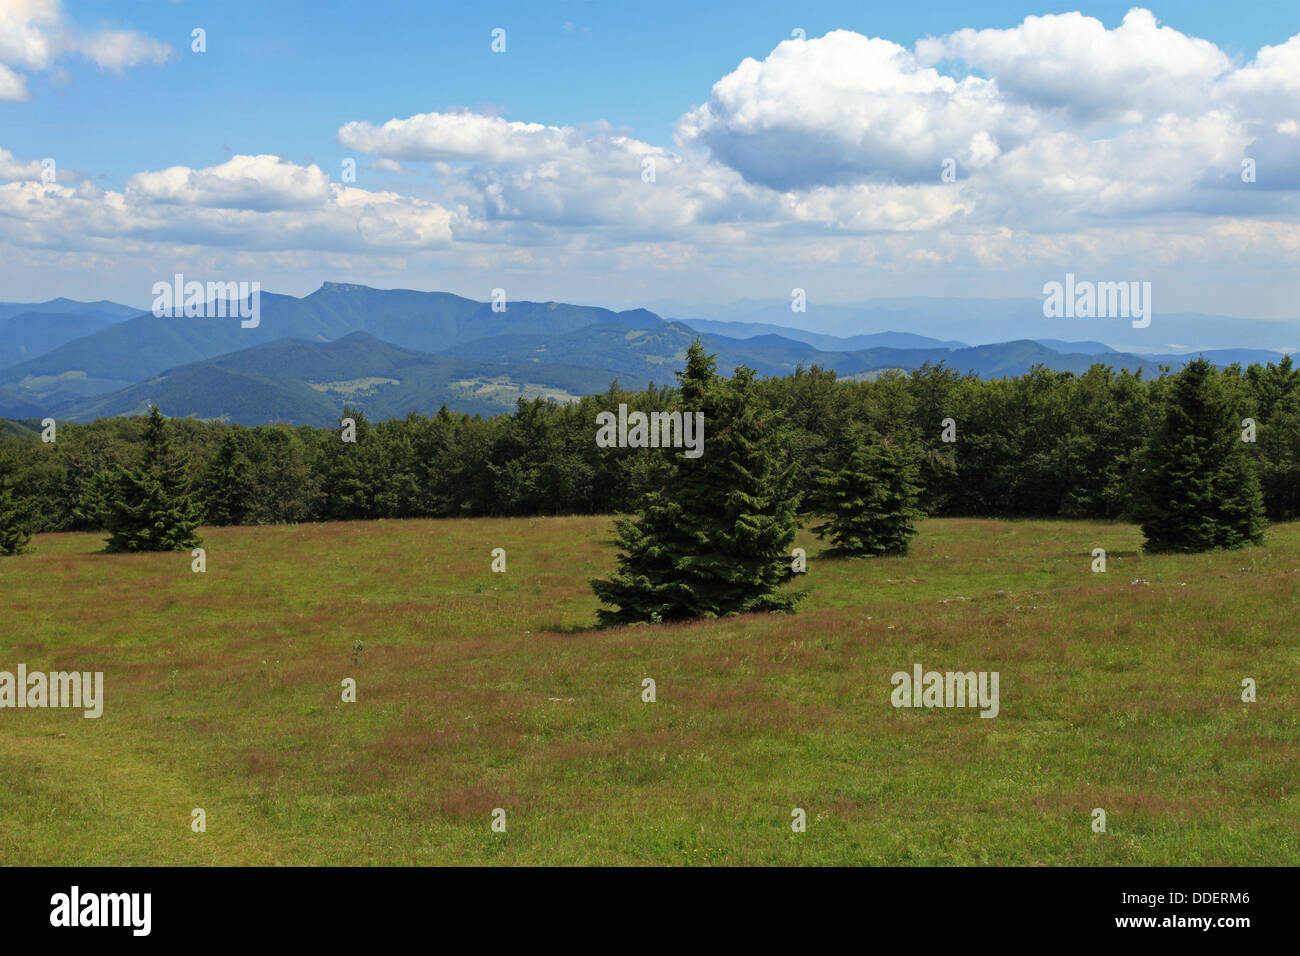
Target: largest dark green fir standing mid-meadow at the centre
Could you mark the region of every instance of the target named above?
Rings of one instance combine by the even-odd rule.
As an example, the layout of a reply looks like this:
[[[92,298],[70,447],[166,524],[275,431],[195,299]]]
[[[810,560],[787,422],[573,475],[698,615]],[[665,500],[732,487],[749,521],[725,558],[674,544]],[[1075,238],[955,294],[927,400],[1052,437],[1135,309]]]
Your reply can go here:
[[[800,493],[774,412],[753,371],[719,378],[698,341],[677,377],[676,410],[703,412],[703,454],[677,458],[670,480],[642,497],[640,514],[619,520],[618,568],[592,581],[614,607],[598,613],[599,623],[790,611],[801,594],[777,589],[793,578]]]

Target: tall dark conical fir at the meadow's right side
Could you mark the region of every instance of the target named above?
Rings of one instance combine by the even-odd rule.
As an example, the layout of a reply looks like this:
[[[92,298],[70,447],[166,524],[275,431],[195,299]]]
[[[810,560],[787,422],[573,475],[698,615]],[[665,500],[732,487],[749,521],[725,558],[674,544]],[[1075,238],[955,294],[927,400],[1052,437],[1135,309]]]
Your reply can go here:
[[[1258,544],[1264,497],[1240,419],[1205,359],[1173,381],[1147,442],[1134,516],[1152,551],[1206,551]]]

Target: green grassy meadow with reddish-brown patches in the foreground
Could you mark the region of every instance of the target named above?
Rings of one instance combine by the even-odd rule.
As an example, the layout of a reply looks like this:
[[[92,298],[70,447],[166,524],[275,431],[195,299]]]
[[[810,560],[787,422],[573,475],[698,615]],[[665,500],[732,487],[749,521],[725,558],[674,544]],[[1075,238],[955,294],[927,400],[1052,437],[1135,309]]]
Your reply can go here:
[[[1087,522],[930,520],[875,561],[805,533],[796,615],[597,631],[610,528],[209,528],[203,575],[38,536],[0,558],[0,670],[107,700],[0,710],[0,862],[1300,862],[1300,524],[1196,557]],[[915,662],[998,671],[1001,714],[892,708]]]

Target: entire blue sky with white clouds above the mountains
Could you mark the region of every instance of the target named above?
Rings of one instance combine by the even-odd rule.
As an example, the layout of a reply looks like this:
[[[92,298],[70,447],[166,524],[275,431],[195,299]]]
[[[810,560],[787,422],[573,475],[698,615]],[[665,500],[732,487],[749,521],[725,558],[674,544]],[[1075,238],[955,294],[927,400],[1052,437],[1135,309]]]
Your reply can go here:
[[[1300,317],[1297,190],[1295,3],[0,0],[0,300]]]

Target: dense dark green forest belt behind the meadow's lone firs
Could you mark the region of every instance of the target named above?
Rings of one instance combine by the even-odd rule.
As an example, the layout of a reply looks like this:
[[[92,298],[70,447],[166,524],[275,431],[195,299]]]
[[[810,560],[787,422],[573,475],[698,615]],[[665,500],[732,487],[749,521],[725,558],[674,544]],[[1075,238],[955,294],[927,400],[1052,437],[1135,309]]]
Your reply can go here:
[[[836,436],[861,423],[905,450],[928,514],[1128,518],[1141,450],[1184,373],[1150,378],[1097,364],[1082,375],[1040,367],[985,381],[926,365],[840,381],[812,367],[757,380],[751,394],[779,423],[807,488],[826,472]],[[1210,367],[1209,376],[1235,419],[1254,423],[1247,451],[1269,518],[1300,516],[1300,371],[1286,359]],[[355,442],[341,428],[194,419],[173,420],[169,432],[208,524],[607,514],[634,509],[680,453],[598,447],[597,414],[620,403],[662,411],[676,401],[671,386],[628,392],[615,382],[573,405],[520,401],[488,419],[443,406],[370,423],[343,408]],[[146,428],[144,418],[58,423],[47,442],[39,421],[8,423],[0,471],[31,529],[108,527],[114,475],[136,463]]]

